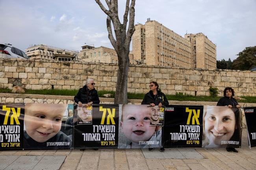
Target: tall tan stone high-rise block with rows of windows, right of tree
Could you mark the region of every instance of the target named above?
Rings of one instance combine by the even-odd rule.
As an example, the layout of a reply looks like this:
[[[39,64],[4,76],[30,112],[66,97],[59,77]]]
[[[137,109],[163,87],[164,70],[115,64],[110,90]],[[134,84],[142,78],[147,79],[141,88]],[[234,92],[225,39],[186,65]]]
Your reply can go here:
[[[195,35],[199,37],[199,35],[203,35],[201,34],[202,33],[198,33]],[[147,65],[178,66],[183,68],[216,68],[216,46],[208,40],[206,36],[204,36],[204,38],[197,38],[196,42],[195,49],[198,51],[196,51],[194,55],[192,39],[183,38],[157,21],[150,21],[148,19],[145,25],[135,25],[135,32],[132,36],[132,51],[135,60],[139,60],[141,63]],[[202,51],[204,42],[207,42],[207,44],[210,44],[213,48],[215,47],[211,49],[212,53],[210,53],[210,51]],[[209,47],[205,48],[205,50],[206,49],[209,50]],[[212,56],[210,58],[208,55],[205,55],[207,56],[205,57],[207,65],[196,64],[197,60],[202,60],[202,57],[195,59],[195,61],[194,57],[197,58],[197,55],[202,56],[204,52]],[[215,55],[213,55],[213,53],[215,53]]]

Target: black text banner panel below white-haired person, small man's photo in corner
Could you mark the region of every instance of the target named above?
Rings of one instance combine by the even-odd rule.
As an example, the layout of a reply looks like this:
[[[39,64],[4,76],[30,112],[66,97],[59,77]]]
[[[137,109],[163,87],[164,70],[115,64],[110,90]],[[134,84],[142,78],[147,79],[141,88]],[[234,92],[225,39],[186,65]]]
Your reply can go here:
[[[74,148],[117,148],[118,104],[74,108]]]

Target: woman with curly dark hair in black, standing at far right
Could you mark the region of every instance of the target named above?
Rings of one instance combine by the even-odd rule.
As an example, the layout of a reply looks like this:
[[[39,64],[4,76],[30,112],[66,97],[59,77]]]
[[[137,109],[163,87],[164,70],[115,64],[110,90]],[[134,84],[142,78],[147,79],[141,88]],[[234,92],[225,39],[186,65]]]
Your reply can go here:
[[[223,91],[223,95],[224,97],[222,97],[221,99],[219,99],[217,106],[228,106],[229,108],[240,108],[240,105],[237,103],[236,99],[233,98],[233,96],[235,95],[234,89],[232,89],[231,87],[226,87]],[[235,116],[236,115],[236,110],[232,109]],[[238,110],[239,111],[239,110]],[[236,121],[237,119],[235,119]],[[238,128],[239,124],[236,124],[236,128]],[[228,152],[238,152],[235,148],[233,147],[227,147],[226,150]]]

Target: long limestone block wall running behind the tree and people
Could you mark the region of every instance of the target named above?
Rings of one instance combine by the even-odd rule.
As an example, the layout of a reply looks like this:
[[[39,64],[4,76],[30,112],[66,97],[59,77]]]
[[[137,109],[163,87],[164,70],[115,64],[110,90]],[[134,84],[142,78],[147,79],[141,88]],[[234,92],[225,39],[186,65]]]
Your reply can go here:
[[[0,88],[79,89],[87,78],[93,78],[97,90],[115,91],[117,71],[117,64],[0,58]],[[253,71],[130,65],[128,77],[128,92],[132,93],[147,93],[149,83],[157,81],[165,94],[209,95],[212,86],[222,95],[230,86],[238,96],[256,96]]]

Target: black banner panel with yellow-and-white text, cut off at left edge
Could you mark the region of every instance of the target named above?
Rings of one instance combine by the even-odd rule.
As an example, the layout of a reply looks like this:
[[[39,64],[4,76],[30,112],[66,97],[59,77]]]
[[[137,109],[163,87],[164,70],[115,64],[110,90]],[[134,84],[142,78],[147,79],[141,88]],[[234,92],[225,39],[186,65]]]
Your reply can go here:
[[[0,104],[0,149],[23,148],[24,104]]]

